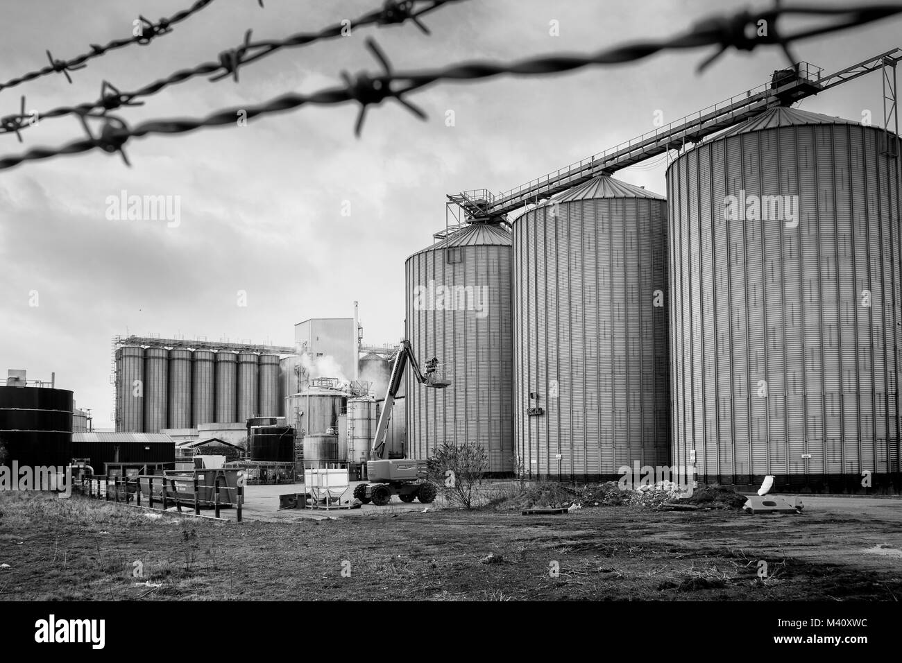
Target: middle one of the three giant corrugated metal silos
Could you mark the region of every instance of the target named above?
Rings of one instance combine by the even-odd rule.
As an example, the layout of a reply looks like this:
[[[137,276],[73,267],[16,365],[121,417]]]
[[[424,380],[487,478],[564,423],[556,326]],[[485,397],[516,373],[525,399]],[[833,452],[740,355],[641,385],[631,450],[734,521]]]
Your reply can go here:
[[[611,481],[668,465],[667,201],[598,176],[513,222],[519,465]]]

